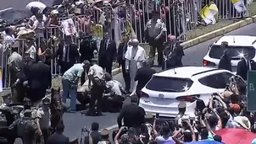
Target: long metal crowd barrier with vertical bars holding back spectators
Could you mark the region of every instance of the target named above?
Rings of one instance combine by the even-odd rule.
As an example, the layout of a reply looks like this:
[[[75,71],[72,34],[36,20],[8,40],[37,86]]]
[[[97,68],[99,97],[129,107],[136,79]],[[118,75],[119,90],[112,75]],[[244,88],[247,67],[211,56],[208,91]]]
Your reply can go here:
[[[176,3],[175,3],[176,2]],[[213,3],[216,4],[219,13],[218,19],[239,19],[244,16],[248,16],[249,13],[249,3],[248,0],[242,0],[245,8],[247,10],[243,13],[238,13],[235,8],[234,0],[213,0]],[[153,10],[158,10],[161,13],[161,19],[166,24],[167,34],[172,34],[177,36],[179,40],[186,40],[186,34],[192,29],[196,29],[198,20],[200,18],[199,11],[209,3],[209,0],[180,0],[178,3],[175,0],[147,0],[147,1],[139,1],[139,0],[130,0],[131,5],[129,6],[120,6],[118,8],[109,8],[104,7],[101,8],[101,13],[108,13],[109,10],[112,12],[117,12],[125,9],[125,13],[123,16],[117,14],[108,13],[106,19],[111,19],[109,25],[104,25],[101,22],[101,13],[97,10],[92,10],[93,13],[89,15],[93,15],[93,23],[90,23],[88,27],[88,23],[86,22],[88,14],[85,15],[70,15],[68,17],[58,18],[58,24],[61,25],[61,21],[65,19],[73,19],[75,28],[77,33],[86,33],[88,31],[94,32],[94,35],[97,36],[97,45],[99,47],[100,40],[103,39],[103,29],[109,29],[109,34],[112,38],[117,42],[121,40],[122,34],[131,33],[131,35],[136,36],[137,39],[141,43],[147,43],[144,38],[144,29],[147,24],[148,19],[151,18]],[[168,7],[167,7],[168,6]],[[92,20],[92,19],[91,19]],[[64,38],[63,29],[59,26],[53,26],[47,28],[46,33],[46,45],[47,48],[50,48],[53,53],[58,50],[58,44]],[[80,45],[80,39],[74,36],[74,42],[78,46]],[[17,45],[19,45],[19,54],[24,56],[24,52],[28,49],[25,45],[24,39],[16,40]],[[0,41],[1,42],[1,41]],[[3,41],[2,41],[3,43]],[[5,86],[9,87],[9,76],[8,76],[8,68],[7,61],[8,56],[10,55],[10,49],[8,45],[4,45],[5,48],[1,51],[2,53],[2,74],[5,77]],[[5,59],[4,59],[5,56]],[[51,70],[53,76],[60,75],[60,68],[58,66],[57,58],[51,60]],[[8,78],[7,78],[8,77]]]

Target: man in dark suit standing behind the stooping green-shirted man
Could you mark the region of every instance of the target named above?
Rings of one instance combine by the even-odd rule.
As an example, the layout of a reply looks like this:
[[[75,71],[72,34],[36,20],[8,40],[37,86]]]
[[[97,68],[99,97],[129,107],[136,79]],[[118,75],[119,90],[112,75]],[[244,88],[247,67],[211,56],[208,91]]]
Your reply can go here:
[[[70,69],[75,62],[79,62],[80,54],[78,52],[78,47],[72,43],[71,36],[65,36],[64,42],[58,45],[58,50],[53,54],[53,58],[57,56],[62,74]]]

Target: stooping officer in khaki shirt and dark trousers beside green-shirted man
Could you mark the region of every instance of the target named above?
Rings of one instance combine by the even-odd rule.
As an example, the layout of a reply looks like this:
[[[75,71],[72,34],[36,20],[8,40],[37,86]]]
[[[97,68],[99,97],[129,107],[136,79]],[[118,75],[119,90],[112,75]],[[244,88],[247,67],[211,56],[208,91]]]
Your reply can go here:
[[[103,103],[103,92],[106,87],[105,85],[105,72],[102,67],[93,64],[88,72],[89,84],[88,87],[91,88],[91,100],[89,104],[89,110],[86,115],[102,115],[102,103]],[[92,87],[91,87],[92,83]],[[95,110],[95,101],[97,100],[97,113]]]

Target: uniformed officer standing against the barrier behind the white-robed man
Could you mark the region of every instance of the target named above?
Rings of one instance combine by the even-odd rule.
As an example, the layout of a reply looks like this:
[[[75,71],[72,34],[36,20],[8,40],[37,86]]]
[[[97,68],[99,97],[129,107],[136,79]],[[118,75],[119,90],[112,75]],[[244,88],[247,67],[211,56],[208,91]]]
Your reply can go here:
[[[158,51],[158,62],[159,66],[163,63],[163,49],[162,46],[165,40],[165,33],[167,31],[164,22],[159,19],[159,12],[153,12],[153,17],[150,19],[145,26],[145,39],[150,45],[149,59],[150,66],[153,66],[155,51]]]

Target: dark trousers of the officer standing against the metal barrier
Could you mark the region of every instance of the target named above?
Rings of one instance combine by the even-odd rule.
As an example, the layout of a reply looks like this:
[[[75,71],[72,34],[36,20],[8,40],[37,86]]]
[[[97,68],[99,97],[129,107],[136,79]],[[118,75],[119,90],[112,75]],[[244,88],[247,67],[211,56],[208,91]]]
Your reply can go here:
[[[156,53],[156,49],[158,51],[158,62],[159,66],[162,66],[163,63],[163,40],[149,40],[149,46],[150,46],[150,51],[149,51],[149,61],[150,65],[153,66],[154,63],[154,56]]]

